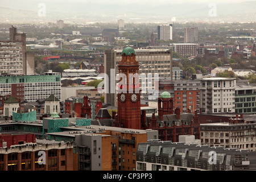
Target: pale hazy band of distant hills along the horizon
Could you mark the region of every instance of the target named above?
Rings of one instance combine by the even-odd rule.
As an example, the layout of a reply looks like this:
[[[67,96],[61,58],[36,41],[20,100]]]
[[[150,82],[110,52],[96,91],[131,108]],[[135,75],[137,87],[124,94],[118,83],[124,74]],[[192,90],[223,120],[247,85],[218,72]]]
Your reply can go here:
[[[125,20],[139,18],[141,20],[161,20],[171,19],[173,16],[177,20],[180,19],[195,19],[195,18],[211,18],[218,20],[256,20],[256,1],[242,3],[216,3],[216,17],[210,17],[209,3],[185,3],[176,5],[163,5],[155,3],[145,3],[144,5],[125,5],[119,3],[108,3],[108,1],[89,1],[87,3],[76,2],[53,2],[47,1],[46,17],[38,16],[38,7],[41,1],[35,0],[12,0],[11,9],[9,8],[10,0],[1,0],[0,17],[2,19],[41,19],[41,20],[56,20],[56,19],[92,19],[106,20],[118,19]],[[1,19],[0,18],[0,19]]]

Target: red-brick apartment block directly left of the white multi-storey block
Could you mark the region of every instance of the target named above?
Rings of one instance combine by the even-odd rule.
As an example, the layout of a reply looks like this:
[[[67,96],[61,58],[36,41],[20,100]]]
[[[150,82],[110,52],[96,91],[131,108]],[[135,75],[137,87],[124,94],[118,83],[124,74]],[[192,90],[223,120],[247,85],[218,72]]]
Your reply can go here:
[[[160,79],[159,93],[169,92],[174,98],[174,107],[180,107],[181,113],[200,110],[200,86],[199,80],[173,80]]]

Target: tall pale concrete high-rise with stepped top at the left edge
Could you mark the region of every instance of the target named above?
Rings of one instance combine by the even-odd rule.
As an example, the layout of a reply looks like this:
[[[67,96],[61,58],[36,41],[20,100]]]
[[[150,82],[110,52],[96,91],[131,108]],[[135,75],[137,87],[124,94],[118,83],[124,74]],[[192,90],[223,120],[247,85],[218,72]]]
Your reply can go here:
[[[34,75],[34,53],[26,51],[26,34],[11,27],[10,40],[0,40],[0,75]]]

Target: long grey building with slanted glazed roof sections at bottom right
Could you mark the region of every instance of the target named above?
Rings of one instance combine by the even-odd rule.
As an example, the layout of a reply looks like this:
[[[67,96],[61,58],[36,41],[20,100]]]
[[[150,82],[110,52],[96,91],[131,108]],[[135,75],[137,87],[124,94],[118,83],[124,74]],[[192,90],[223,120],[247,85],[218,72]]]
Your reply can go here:
[[[214,156],[212,156],[214,155]],[[255,170],[255,151],[197,143],[148,141],[137,147],[137,171]]]

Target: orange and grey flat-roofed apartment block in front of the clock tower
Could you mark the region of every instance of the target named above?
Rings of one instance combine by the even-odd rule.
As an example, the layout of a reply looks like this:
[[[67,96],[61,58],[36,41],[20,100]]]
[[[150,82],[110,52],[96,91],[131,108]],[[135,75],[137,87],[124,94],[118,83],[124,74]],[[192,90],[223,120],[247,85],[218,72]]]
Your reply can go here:
[[[138,143],[158,139],[158,131],[89,125],[63,127],[48,136],[75,141],[81,171],[135,171]]]

